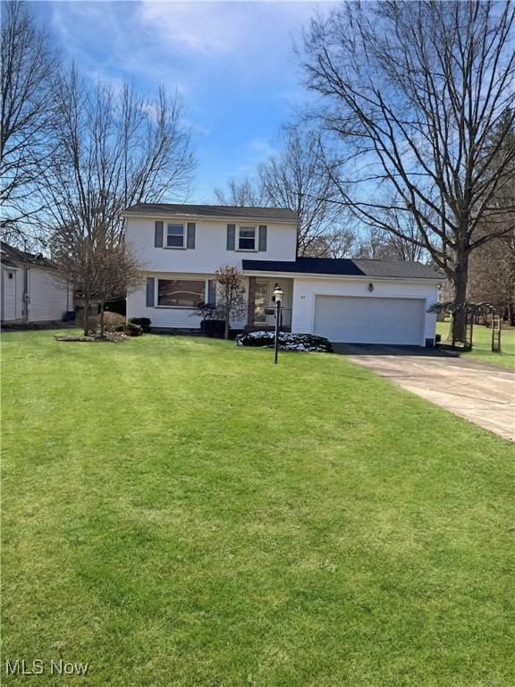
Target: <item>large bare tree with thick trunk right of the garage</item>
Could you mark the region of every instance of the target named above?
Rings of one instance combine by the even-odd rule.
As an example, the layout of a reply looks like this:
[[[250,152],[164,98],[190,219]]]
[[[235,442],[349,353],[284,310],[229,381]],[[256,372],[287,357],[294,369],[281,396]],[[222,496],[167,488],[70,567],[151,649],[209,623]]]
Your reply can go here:
[[[494,202],[515,158],[514,20],[508,2],[350,2],[305,36],[317,114],[347,146],[343,205],[430,252],[453,284],[457,339],[469,255],[515,216]],[[393,226],[390,210],[413,216],[418,235]],[[481,222],[488,233],[478,235]]]

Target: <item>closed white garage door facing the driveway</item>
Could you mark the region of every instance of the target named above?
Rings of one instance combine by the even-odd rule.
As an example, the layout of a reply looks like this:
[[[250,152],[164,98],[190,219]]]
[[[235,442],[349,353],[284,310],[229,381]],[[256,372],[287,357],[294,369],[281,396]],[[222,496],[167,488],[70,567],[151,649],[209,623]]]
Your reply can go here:
[[[345,344],[423,344],[426,301],[317,296],[315,334]]]

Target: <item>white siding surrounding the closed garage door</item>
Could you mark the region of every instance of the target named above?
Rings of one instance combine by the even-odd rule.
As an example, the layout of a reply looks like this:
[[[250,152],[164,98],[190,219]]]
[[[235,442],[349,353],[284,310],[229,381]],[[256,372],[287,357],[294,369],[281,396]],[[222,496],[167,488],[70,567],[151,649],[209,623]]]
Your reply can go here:
[[[368,284],[374,284],[374,291],[368,291]],[[315,329],[315,301],[317,295],[327,296],[359,296],[361,298],[414,298],[424,303],[424,335],[420,345],[424,345],[426,338],[435,338],[435,313],[426,312],[430,305],[438,301],[438,285],[422,280],[378,280],[372,277],[366,279],[337,279],[337,278],[296,278],[293,285],[293,315],[291,330],[293,332],[313,334]]]

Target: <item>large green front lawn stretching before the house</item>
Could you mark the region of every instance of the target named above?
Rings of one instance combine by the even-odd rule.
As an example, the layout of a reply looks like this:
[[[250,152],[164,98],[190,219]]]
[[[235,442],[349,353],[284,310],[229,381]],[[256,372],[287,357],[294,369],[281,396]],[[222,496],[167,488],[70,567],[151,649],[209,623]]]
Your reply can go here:
[[[3,672],[514,683],[515,447],[340,356],[271,363],[199,338],[4,335]]]

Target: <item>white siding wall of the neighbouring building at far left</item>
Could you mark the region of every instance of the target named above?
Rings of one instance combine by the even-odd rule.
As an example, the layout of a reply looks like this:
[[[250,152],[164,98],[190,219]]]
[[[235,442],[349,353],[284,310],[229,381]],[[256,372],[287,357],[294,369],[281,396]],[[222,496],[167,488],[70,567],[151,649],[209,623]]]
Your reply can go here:
[[[50,269],[30,267],[29,271],[29,321],[47,322],[61,320],[69,310],[69,289]]]

